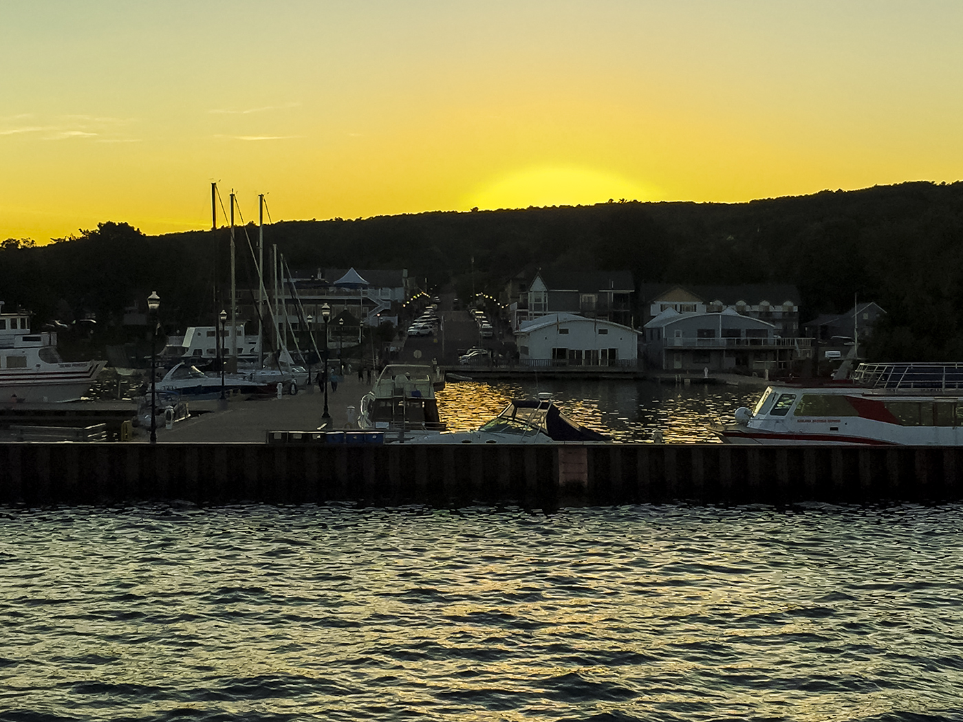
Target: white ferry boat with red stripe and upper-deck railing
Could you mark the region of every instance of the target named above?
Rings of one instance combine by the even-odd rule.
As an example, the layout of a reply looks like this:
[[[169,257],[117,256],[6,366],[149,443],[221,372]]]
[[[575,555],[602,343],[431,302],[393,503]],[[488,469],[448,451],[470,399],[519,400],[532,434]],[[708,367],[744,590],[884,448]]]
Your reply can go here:
[[[826,385],[771,384],[735,422],[730,444],[963,445],[963,364],[860,364]]]

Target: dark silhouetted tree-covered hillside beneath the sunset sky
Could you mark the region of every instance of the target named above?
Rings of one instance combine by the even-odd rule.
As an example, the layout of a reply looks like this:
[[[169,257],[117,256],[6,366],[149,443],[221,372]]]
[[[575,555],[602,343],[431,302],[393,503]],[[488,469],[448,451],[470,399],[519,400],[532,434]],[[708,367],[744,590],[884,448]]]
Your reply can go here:
[[[247,236],[245,234],[247,230]],[[239,285],[253,284],[236,229]],[[279,221],[265,228],[293,269],[407,269],[428,290],[498,296],[523,270],[629,270],[638,283],[793,283],[803,322],[853,297],[887,312],[876,360],[963,360],[963,182],[748,203],[638,201],[369,219]],[[147,236],[98,223],[55,243],[0,243],[0,299],[39,321],[98,320],[117,343],[130,302],[156,290],[169,325],[209,322],[228,277],[228,229]],[[638,317],[637,317],[638,318]],[[113,322],[112,322],[113,321]]]

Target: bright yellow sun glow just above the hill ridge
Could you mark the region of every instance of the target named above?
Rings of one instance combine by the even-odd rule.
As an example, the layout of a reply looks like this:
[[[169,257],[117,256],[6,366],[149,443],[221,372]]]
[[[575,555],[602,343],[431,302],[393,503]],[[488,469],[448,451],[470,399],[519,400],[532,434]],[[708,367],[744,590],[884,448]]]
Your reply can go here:
[[[593,205],[607,200],[660,200],[661,193],[615,173],[580,166],[514,170],[465,197],[468,208],[495,210],[558,205]]]

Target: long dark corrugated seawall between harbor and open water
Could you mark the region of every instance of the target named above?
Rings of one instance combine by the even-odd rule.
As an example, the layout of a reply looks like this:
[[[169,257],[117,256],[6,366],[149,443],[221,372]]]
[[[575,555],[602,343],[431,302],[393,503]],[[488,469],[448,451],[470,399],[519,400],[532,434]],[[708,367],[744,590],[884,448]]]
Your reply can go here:
[[[0,503],[942,502],[963,448],[0,444]]]

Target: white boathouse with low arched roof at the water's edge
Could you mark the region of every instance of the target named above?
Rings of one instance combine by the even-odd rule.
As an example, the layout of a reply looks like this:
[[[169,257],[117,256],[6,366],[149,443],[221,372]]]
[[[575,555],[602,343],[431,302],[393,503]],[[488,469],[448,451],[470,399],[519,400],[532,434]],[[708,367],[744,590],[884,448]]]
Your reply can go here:
[[[519,361],[531,366],[635,364],[638,331],[620,323],[551,314],[523,322],[515,332]]]

